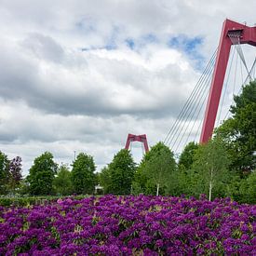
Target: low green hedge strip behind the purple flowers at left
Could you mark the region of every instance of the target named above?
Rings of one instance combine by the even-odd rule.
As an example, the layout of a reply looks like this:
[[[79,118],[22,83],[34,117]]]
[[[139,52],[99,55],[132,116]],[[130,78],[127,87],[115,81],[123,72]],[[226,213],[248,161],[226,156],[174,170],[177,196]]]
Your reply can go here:
[[[71,196],[74,199],[82,199],[88,195]],[[28,197],[0,197],[0,206],[2,207],[29,207],[32,205],[45,205],[49,202],[57,201],[59,198],[68,196],[28,196]]]

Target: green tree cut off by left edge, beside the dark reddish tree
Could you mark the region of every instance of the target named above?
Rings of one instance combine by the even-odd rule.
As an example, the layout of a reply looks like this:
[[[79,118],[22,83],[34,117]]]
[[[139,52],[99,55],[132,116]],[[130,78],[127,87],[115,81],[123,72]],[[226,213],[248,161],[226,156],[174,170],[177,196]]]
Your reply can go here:
[[[7,155],[0,151],[0,194],[7,194],[7,183],[9,181],[9,160]]]

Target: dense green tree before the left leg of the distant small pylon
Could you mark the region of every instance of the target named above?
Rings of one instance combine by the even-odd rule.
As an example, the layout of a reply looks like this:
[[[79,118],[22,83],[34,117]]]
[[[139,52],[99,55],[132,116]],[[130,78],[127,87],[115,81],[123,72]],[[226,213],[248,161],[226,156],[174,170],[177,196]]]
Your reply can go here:
[[[108,168],[104,169],[105,182],[109,183],[107,192],[114,195],[129,195],[135,169],[136,164],[130,152],[127,149],[120,150]]]

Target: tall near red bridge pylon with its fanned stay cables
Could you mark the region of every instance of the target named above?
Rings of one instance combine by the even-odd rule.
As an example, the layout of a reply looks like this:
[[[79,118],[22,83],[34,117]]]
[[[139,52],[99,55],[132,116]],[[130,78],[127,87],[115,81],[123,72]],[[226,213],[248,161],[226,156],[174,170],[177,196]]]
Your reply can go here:
[[[164,143],[167,144],[169,147],[171,146],[171,149],[175,153],[177,153],[177,150],[180,150],[180,146],[183,141],[187,143],[187,141],[191,139],[194,133],[195,138],[197,137],[200,127],[202,127],[202,131],[199,141],[201,143],[209,141],[209,139],[211,138],[213,128],[215,126],[217,114],[217,124],[220,124],[220,120],[222,118],[222,108],[227,107],[224,104],[224,101],[228,91],[227,87],[229,84],[230,76],[234,72],[234,70],[232,70],[232,66],[235,60],[235,52],[237,71],[235,72],[235,74],[239,73],[239,70],[237,69],[237,63],[239,61],[241,72],[241,74],[239,75],[241,77],[242,85],[246,84],[248,81],[251,81],[253,77],[255,77],[256,59],[249,70],[241,44],[248,44],[256,47],[256,34],[254,27],[248,27],[243,24],[237,23],[233,20],[225,20],[222,26],[220,44],[219,47],[217,48],[218,51],[216,49],[216,51],[212,55],[206,69],[201,74],[188,100],[185,101],[185,104],[182,107],[182,111],[178,115],[178,118],[175,120],[172,127],[169,129],[168,135],[164,140]],[[232,58],[230,61],[228,61],[229,55],[232,51]],[[244,79],[244,69],[246,70],[247,73],[246,79]],[[227,75],[225,78],[226,71]],[[237,81],[235,76],[233,94],[235,94],[235,88],[237,84],[236,82]],[[222,88],[224,89],[223,92]],[[232,92],[230,91],[229,93]],[[218,113],[220,100],[221,106]],[[204,119],[202,119],[200,118],[200,115],[202,113],[204,105],[206,105],[206,112]],[[198,127],[199,120],[201,120],[201,122],[200,126]],[[196,127],[197,129],[195,132]]]

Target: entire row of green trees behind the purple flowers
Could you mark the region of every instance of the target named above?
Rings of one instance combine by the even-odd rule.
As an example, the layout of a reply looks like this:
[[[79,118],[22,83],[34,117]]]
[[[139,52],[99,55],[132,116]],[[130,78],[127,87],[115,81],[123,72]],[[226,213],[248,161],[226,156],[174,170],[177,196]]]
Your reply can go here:
[[[95,172],[91,155],[77,155],[70,168],[58,167],[46,152],[34,159],[29,175],[21,180],[21,159],[9,161],[0,153],[1,194],[91,195],[100,184],[102,194],[205,194],[209,200],[230,196],[241,203],[256,203],[256,82],[234,100],[232,116],[214,131],[213,139],[203,145],[190,142],[177,162],[162,142],[139,165],[122,149],[100,173]]]

